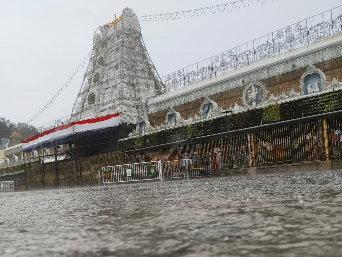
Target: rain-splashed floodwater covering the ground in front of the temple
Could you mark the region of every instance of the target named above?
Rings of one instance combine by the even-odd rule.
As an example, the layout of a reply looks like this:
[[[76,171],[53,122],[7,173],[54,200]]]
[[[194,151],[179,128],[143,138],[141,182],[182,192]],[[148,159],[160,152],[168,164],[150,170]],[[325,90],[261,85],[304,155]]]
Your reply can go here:
[[[0,256],[341,256],[341,189],[329,171],[1,193]]]

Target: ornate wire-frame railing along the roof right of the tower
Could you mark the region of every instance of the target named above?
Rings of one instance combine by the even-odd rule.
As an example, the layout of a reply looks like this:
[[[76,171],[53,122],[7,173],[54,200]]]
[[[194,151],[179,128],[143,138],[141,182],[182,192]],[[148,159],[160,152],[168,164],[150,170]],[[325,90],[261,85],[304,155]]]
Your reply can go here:
[[[161,77],[168,91],[342,33],[342,5]]]

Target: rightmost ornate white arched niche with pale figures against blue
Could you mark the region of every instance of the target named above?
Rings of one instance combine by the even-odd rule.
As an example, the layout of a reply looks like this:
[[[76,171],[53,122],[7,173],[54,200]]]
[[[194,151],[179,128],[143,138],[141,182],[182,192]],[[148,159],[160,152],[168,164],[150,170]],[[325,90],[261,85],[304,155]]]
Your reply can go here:
[[[302,95],[308,95],[327,89],[329,83],[324,72],[310,64],[302,74],[298,87]]]

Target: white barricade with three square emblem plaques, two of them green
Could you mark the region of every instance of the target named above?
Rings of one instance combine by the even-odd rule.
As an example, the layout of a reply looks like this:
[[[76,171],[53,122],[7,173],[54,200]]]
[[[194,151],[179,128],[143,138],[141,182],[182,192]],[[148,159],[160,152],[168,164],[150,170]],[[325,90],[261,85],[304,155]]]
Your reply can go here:
[[[103,184],[130,181],[163,180],[161,161],[102,167]]]

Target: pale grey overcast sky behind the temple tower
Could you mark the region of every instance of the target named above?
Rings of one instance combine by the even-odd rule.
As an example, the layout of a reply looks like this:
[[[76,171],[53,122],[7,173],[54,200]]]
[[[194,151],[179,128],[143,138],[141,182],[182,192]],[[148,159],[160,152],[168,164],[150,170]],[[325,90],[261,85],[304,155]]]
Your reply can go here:
[[[0,117],[27,122],[63,86],[93,46],[95,29],[126,7],[137,15],[207,7],[229,0],[0,0]],[[342,4],[341,0],[267,0],[209,16],[141,23],[159,75]],[[33,123],[70,114],[83,72]]]

